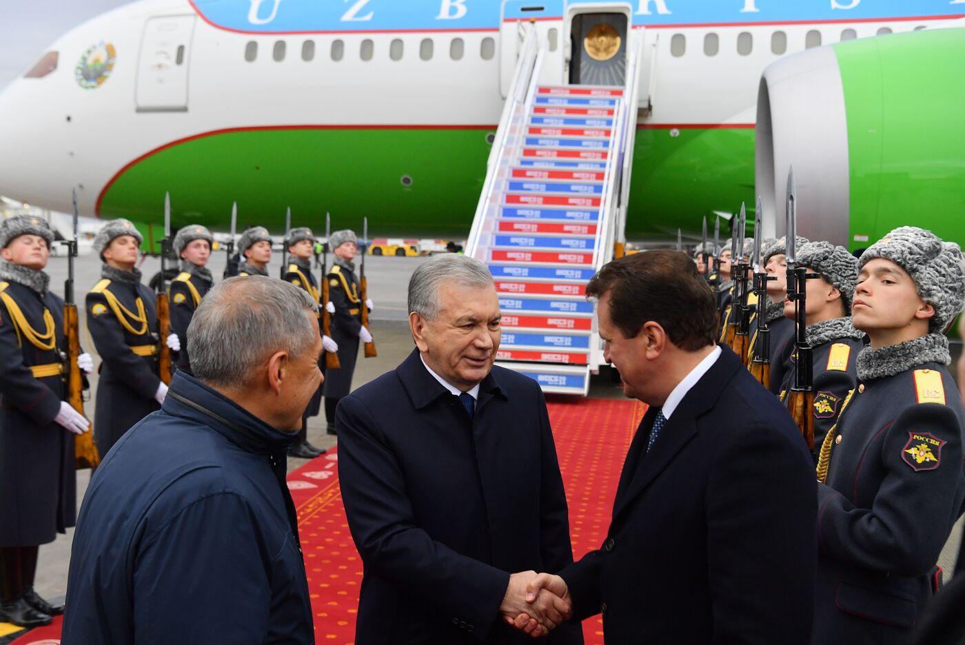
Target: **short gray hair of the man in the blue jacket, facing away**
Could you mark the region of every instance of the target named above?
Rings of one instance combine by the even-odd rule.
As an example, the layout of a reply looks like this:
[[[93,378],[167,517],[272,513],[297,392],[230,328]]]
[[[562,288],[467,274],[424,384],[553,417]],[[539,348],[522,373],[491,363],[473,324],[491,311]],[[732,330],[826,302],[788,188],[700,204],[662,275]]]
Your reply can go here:
[[[298,357],[312,348],[317,332],[305,311],[318,306],[290,282],[250,276],[216,284],[187,328],[191,371],[216,387],[248,385],[271,354]]]

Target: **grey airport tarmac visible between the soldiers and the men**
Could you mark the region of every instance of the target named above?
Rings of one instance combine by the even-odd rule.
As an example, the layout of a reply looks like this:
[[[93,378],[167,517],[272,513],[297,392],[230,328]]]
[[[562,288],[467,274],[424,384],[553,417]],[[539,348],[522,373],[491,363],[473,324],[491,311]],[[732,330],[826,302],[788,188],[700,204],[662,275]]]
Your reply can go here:
[[[209,268],[215,276],[215,280],[220,280],[225,266],[224,252],[215,252],[209,262]],[[331,258],[329,258],[331,259]],[[356,258],[358,260],[360,258]],[[372,298],[374,309],[371,316],[372,336],[378,350],[378,356],[372,359],[359,358],[356,363],[353,388],[357,388],[381,374],[394,369],[396,365],[412,351],[413,342],[408,329],[408,311],[406,308],[406,286],[409,276],[415,268],[426,260],[425,257],[374,257],[366,258],[366,275],[369,278],[370,297]],[[356,261],[358,264],[358,261]],[[269,275],[278,275],[281,266],[279,254],[273,255],[272,262],[268,265]],[[151,277],[160,269],[160,261],[157,257],[147,257],[140,266],[144,274],[144,282],[147,283]],[[63,294],[64,281],[67,279],[68,262],[63,256],[50,258],[47,266],[47,273],[51,278],[51,285],[54,292]],[[83,255],[76,261],[75,293],[80,306],[83,306],[84,295],[100,279],[100,261],[96,255]],[[93,343],[86,330],[86,316],[81,314],[81,343],[87,351],[94,354]],[[960,344],[953,346],[953,354],[961,351]],[[95,364],[99,362],[96,360]],[[92,392],[96,391],[96,374],[92,375]],[[604,369],[598,377],[593,379],[590,395],[598,398],[616,398],[622,396],[622,391],[616,385],[608,369]],[[86,405],[89,417],[94,414],[93,400]],[[321,417],[313,417],[308,422],[309,441],[318,447],[330,447],[336,443],[336,438],[325,433],[325,421],[322,413]],[[92,418],[96,425],[96,418]],[[587,429],[588,449],[592,449],[593,429]],[[298,468],[305,463],[301,459],[289,459],[289,471]],[[90,480],[90,470],[80,470],[77,473],[77,502],[78,509],[87,490]],[[946,545],[939,564],[946,572],[946,576],[951,576],[954,569],[955,557],[958,551],[962,529],[962,521],[955,525],[951,533],[951,538]],[[41,547],[40,562],[37,572],[36,589],[41,596],[49,599],[62,599],[67,591],[67,572],[69,567],[70,543],[73,537],[73,530],[70,529],[66,535],[58,535],[57,540],[51,544]]]

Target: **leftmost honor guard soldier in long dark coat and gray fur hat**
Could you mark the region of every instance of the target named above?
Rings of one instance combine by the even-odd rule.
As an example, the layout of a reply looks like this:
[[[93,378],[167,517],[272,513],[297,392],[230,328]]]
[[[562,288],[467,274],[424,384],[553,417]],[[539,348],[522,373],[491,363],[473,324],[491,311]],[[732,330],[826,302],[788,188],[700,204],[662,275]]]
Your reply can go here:
[[[54,234],[19,215],[0,223],[0,623],[63,613],[34,591],[41,544],[76,519],[73,436],[88,420],[64,400],[64,301],[43,268]],[[90,355],[77,365],[90,372]]]

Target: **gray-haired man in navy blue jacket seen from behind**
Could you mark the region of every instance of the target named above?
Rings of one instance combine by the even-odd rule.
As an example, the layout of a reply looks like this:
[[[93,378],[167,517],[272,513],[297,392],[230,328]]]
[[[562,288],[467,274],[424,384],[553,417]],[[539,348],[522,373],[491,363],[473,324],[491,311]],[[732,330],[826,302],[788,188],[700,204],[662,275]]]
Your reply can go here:
[[[175,375],[88,489],[63,642],[312,643],[285,455],[322,378],[315,304],[232,278],[187,342],[194,376]]]

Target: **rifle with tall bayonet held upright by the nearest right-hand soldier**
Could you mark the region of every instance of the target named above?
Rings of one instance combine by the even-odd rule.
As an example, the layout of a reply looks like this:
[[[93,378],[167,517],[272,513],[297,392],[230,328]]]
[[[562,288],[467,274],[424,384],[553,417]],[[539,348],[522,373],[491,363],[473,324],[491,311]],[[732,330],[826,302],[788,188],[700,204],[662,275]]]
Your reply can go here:
[[[797,266],[797,191],[794,185],[794,169],[787,175],[787,299],[794,303],[794,385],[787,392],[785,403],[791,417],[801,430],[808,448],[814,449],[814,389],[813,351],[808,344],[805,319],[806,284],[819,278],[808,269]]]

